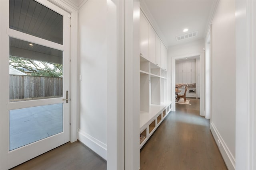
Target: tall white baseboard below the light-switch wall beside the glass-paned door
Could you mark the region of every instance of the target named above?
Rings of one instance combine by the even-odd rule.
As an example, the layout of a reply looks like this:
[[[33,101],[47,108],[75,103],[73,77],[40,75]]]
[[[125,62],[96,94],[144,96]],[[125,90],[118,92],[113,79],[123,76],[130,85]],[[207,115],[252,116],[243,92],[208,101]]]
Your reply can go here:
[[[78,129],[78,140],[107,160],[107,145]]]

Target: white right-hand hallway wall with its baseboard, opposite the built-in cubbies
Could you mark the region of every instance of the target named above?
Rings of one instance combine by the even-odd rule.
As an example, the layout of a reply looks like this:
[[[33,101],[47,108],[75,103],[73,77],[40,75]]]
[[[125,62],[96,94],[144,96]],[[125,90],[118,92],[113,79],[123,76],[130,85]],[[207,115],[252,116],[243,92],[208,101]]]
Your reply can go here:
[[[235,42],[235,1],[220,0],[212,20],[211,131],[230,170],[235,166]]]

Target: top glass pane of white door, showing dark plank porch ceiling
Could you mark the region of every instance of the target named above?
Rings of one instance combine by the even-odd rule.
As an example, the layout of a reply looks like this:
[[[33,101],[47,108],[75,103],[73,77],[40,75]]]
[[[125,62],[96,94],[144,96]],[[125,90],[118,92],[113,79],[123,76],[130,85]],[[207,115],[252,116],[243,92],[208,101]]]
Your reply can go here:
[[[9,27],[63,45],[63,16],[34,0],[9,1]]]

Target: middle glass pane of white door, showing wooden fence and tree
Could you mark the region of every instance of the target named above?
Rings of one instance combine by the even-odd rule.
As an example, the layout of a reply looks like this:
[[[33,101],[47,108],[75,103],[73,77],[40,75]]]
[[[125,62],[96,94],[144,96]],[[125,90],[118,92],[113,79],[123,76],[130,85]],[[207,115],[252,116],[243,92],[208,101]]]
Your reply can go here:
[[[10,37],[10,102],[62,97],[62,53]]]

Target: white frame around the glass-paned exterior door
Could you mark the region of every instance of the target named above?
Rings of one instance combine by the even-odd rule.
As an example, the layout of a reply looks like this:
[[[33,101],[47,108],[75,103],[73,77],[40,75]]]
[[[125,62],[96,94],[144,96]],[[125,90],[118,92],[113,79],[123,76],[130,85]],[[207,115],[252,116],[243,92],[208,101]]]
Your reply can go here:
[[[6,24],[8,25],[8,9],[5,8],[8,0],[0,1],[0,22],[5,23],[0,25],[0,51],[8,49],[8,44],[3,41],[3,37],[6,36]],[[72,22],[70,23],[70,142],[77,141],[77,113],[78,113],[78,98],[77,98],[77,87],[78,87],[78,9],[72,8],[66,3],[58,0],[48,0],[51,5],[57,6],[62,10],[70,14]],[[48,3],[47,2],[47,3]],[[72,29],[74,28],[74,29]],[[3,64],[0,67],[0,78],[3,79],[6,77],[5,73],[8,70],[8,63]],[[5,121],[6,116],[4,116],[7,111],[6,104],[8,101],[6,96],[8,95],[7,84],[4,82],[0,84],[0,126],[8,127],[8,122]],[[0,128],[0,169],[7,169],[7,153],[8,153],[8,140],[5,139],[5,136],[9,135],[7,132]]]

